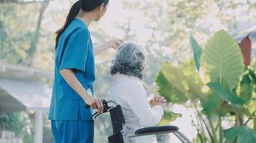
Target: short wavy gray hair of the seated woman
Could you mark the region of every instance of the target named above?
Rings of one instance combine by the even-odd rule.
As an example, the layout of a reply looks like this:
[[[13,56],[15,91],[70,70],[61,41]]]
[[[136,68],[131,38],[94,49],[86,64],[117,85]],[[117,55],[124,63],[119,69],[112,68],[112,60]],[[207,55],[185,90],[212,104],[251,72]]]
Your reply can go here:
[[[124,74],[130,77],[143,79],[143,69],[145,66],[147,51],[133,42],[124,42],[116,51],[116,56],[112,61],[110,74]]]

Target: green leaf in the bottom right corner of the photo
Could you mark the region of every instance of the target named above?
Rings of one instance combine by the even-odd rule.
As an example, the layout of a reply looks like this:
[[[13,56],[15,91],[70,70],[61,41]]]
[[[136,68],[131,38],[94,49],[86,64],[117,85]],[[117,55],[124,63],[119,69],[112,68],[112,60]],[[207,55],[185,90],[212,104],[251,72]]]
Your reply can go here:
[[[232,127],[224,131],[224,137],[227,138],[228,142],[234,142],[238,139],[238,142],[243,143],[255,143],[256,132],[246,126]]]

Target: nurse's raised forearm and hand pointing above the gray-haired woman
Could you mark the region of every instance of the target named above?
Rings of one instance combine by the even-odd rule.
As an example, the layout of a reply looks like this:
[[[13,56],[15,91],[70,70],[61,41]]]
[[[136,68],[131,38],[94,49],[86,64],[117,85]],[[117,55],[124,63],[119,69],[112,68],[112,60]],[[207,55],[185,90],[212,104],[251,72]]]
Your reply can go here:
[[[98,46],[94,46],[94,55],[100,54],[109,48],[117,49],[123,41],[121,39],[114,39],[111,41],[106,41],[104,44],[100,44]]]

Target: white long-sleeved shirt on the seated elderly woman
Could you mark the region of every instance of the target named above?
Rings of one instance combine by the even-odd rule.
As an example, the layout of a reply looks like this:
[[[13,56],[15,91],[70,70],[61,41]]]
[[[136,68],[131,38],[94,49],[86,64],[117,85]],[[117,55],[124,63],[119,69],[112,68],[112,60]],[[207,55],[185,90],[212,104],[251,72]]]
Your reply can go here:
[[[109,99],[120,104],[127,124],[128,134],[137,129],[154,127],[163,117],[163,107],[150,107],[142,81],[136,77],[115,74]],[[154,136],[132,137],[130,143],[157,143]]]

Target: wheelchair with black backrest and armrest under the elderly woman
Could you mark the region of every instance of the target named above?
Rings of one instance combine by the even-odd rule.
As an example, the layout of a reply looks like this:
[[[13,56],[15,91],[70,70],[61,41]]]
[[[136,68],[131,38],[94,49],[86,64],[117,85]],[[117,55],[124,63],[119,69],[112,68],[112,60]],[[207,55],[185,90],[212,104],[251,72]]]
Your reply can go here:
[[[179,132],[178,127],[175,126],[145,127],[137,129],[134,134],[128,134],[121,105],[111,100],[102,100],[102,103],[104,104],[104,113],[109,112],[111,117],[113,134],[108,137],[109,143],[129,143],[129,138],[132,137],[167,133],[175,134],[183,143],[192,143],[183,133]],[[86,108],[90,107],[87,105]],[[93,119],[95,120],[99,115],[98,112],[94,113]]]

